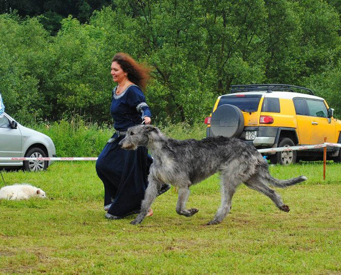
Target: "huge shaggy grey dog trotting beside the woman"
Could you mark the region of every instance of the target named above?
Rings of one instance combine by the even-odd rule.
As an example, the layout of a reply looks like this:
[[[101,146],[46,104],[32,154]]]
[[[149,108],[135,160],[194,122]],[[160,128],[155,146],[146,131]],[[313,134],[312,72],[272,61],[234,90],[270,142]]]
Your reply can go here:
[[[221,205],[208,223],[213,225],[221,223],[230,212],[232,197],[241,183],[268,196],[280,210],[289,212],[289,207],[268,185],[285,188],[307,179],[305,176],[289,180],[273,178],[269,174],[268,163],[257,149],[235,138],[217,136],[180,141],[166,137],[152,125],[137,125],[128,129],[119,145],[127,150],[147,146],[154,157],[145,198],[140,213],[131,222],[133,225],[143,221],[164,183],[178,188],[176,211],[189,217],[198,211],[196,208],[186,209],[189,187],[220,172]]]

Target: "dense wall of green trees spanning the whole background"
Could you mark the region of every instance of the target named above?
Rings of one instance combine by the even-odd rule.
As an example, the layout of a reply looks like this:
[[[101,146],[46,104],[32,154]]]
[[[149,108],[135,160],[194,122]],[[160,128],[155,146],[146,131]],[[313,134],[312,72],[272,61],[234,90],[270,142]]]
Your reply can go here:
[[[153,68],[145,92],[159,122],[202,121],[218,95],[251,83],[311,88],[340,114],[339,1],[102,4],[87,21],[62,19],[56,35],[42,15],[0,15],[0,92],[9,114],[21,122],[74,115],[110,122],[109,67],[118,51]]]

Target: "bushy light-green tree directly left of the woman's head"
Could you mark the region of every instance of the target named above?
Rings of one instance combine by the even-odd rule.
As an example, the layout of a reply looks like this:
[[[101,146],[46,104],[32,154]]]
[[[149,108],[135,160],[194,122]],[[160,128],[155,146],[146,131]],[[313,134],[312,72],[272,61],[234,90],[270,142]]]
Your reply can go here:
[[[103,33],[93,25],[81,25],[77,19],[62,20],[62,29],[49,46],[45,61],[50,70],[43,75],[46,114],[60,119],[63,115],[84,115],[103,120],[108,113],[110,96],[109,60],[101,50]],[[53,117],[51,115],[53,114]]]

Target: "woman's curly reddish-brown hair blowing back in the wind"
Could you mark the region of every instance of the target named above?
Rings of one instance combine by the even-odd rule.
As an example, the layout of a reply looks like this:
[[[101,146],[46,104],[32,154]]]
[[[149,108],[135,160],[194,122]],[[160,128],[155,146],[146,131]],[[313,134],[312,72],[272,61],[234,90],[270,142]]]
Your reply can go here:
[[[116,61],[120,64],[122,70],[128,75],[128,79],[136,84],[141,90],[145,90],[147,82],[150,79],[151,69],[145,65],[138,64],[129,54],[118,52],[112,58],[111,62]]]

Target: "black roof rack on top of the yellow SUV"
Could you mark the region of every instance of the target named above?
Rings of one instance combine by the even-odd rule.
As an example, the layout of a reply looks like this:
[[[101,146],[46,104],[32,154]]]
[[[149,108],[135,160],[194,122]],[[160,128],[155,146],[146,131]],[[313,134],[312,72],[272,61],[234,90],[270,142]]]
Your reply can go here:
[[[283,92],[300,92],[295,90],[303,90],[308,92],[310,95],[314,95],[314,93],[304,87],[286,85],[286,84],[250,84],[250,85],[231,85],[231,94],[239,93],[239,92],[254,92],[254,91],[267,91],[267,93],[271,93],[272,91],[283,91]]]

